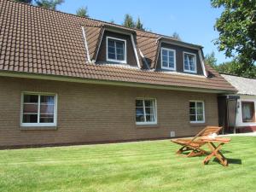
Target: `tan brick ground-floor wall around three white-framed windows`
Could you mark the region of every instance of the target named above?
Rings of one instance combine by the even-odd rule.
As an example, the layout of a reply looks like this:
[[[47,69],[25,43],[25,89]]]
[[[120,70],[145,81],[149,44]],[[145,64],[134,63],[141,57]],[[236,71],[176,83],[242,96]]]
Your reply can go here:
[[[22,91],[58,95],[57,129],[20,128]],[[158,125],[135,122],[137,97],[157,100]],[[203,100],[206,124],[189,123],[189,100]],[[79,84],[36,79],[0,78],[0,147],[56,143],[97,143],[195,135],[205,125],[218,125],[215,94]]]

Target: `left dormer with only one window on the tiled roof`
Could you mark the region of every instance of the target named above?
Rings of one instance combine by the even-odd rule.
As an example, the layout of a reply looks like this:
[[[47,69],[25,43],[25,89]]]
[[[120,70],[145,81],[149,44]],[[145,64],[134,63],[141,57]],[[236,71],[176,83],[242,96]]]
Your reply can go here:
[[[138,56],[136,32],[132,29],[109,25],[85,26],[85,46],[90,53],[90,62],[96,64],[119,65],[141,68],[142,61]],[[97,37],[93,37],[97,30]]]

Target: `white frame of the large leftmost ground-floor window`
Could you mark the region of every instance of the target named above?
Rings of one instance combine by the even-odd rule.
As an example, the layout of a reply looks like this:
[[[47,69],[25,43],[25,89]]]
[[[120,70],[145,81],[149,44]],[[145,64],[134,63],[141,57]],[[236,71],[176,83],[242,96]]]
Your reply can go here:
[[[24,95],[36,95],[38,96],[38,123],[23,123],[23,107],[24,107]],[[41,96],[54,96],[54,122],[53,123],[39,123],[40,119],[40,97]],[[58,96],[55,93],[44,92],[22,92],[20,101],[20,126],[56,126],[57,125],[57,99]]]

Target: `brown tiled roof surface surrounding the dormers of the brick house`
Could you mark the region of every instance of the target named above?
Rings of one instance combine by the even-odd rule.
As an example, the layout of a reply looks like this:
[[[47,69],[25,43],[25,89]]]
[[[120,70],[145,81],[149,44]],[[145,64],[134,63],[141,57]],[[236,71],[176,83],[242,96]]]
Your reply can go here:
[[[102,28],[116,26],[135,32],[137,49],[148,63],[154,63],[156,41],[160,35],[42,9],[9,0],[0,0],[0,72],[34,73],[99,79],[140,84],[235,90],[211,67],[209,78],[155,72],[136,67],[118,67],[88,62],[82,26],[85,28],[89,55],[96,58]],[[139,54],[138,54],[139,55]],[[139,58],[141,61],[141,58]]]

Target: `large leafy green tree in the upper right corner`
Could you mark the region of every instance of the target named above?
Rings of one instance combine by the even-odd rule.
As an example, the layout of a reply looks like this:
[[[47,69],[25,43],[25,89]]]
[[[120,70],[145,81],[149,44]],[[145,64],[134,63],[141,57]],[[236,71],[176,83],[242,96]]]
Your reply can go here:
[[[238,55],[241,64],[252,67],[256,61],[256,1],[211,2],[213,8],[224,8],[214,26],[219,33],[218,49],[228,57]]]

